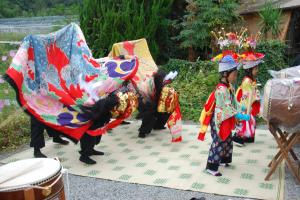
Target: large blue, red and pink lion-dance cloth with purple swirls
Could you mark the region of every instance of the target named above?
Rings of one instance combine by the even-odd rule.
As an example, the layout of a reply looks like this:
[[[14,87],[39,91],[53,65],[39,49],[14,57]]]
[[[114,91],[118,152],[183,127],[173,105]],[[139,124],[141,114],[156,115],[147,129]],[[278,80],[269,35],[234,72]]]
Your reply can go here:
[[[135,76],[138,66],[134,55],[99,64],[80,27],[72,23],[54,33],[25,37],[6,79],[27,113],[78,141],[85,132],[101,135],[121,122],[89,131],[93,121],[81,107],[116,92]]]

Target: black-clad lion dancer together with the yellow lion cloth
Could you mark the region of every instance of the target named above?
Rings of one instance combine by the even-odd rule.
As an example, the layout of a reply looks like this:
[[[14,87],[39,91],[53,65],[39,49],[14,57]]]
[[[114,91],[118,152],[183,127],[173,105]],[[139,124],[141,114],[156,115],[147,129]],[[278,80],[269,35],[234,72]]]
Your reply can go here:
[[[116,43],[109,54],[110,57],[133,55],[139,59],[139,68],[128,87],[139,96],[138,110],[142,119],[139,137],[145,138],[153,129],[164,129],[167,124],[172,142],[180,142],[182,124],[178,94],[168,86],[177,72],[167,74],[158,69],[145,39]]]

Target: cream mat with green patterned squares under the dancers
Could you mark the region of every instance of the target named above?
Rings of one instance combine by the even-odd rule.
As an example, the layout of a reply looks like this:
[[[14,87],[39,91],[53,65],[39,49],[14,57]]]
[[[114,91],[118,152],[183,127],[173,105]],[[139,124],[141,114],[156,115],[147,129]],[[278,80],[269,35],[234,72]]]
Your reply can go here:
[[[257,131],[256,143],[239,148],[234,146],[233,163],[221,167],[222,177],[205,171],[211,137],[197,140],[199,126],[184,125],[183,142],[170,143],[168,130],[153,131],[146,139],[137,137],[140,122],[120,126],[103,136],[96,147],[105,156],[93,156],[96,165],[85,165],[79,158],[79,145],[62,146],[46,143],[43,152],[59,157],[69,173],[115,181],[192,190],[227,196],[258,199],[283,199],[284,167],[281,166],[270,181],[264,181],[267,164],[277,152],[268,131]],[[31,158],[32,149],[15,154],[1,162]]]

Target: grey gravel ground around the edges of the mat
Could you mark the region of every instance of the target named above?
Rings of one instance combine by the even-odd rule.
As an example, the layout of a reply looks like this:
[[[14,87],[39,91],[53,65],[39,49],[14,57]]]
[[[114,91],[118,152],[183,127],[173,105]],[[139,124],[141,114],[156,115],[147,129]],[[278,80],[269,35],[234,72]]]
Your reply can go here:
[[[24,145],[13,152],[2,152],[0,153],[0,160],[28,148],[28,145]],[[294,150],[296,154],[300,156],[300,144],[298,144]],[[69,181],[67,181],[67,179]],[[286,167],[285,200],[300,200],[300,184],[297,185],[295,181],[295,178]],[[192,197],[204,197],[206,200],[241,199],[200,192],[81,177],[72,174],[69,174],[68,178],[64,175],[64,182],[65,184],[69,182],[69,198],[67,199],[70,200],[189,200]],[[67,188],[66,185],[66,195],[68,193]]]

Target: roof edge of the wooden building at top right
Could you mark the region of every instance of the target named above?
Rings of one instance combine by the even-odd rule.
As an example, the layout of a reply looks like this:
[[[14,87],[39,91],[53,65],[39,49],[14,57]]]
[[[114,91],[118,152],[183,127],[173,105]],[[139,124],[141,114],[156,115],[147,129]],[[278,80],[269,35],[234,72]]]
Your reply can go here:
[[[270,0],[274,4],[278,4],[279,8],[292,9],[300,7],[300,0]],[[241,0],[241,6],[239,8],[240,14],[254,13],[260,11],[266,0]]]

